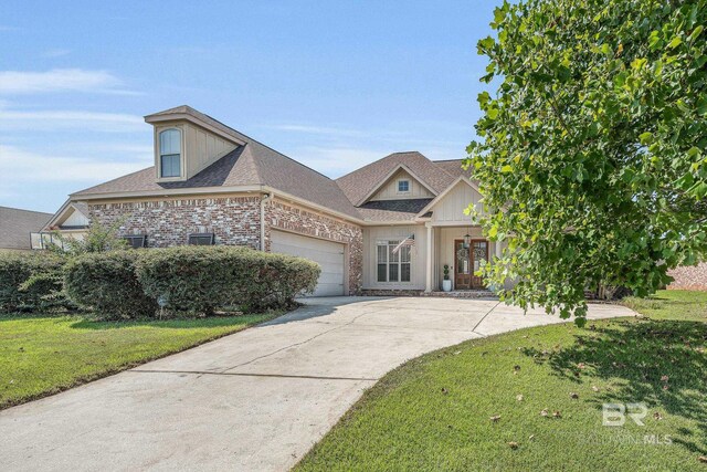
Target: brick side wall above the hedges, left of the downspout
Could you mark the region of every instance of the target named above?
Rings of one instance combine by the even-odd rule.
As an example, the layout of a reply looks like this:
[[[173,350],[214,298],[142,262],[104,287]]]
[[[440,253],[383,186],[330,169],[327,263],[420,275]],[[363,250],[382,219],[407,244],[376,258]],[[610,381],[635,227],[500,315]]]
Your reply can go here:
[[[213,232],[217,244],[260,249],[260,196],[190,198],[89,204],[102,224],[122,220],[120,235],[147,234],[150,248],[187,244],[189,234]]]

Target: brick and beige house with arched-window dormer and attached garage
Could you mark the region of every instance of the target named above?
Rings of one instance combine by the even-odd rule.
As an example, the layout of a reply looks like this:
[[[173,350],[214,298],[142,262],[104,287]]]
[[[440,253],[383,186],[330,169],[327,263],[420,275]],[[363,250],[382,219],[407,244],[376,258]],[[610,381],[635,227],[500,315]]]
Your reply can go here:
[[[135,247],[241,244],[312,259],[316,295],[483,289],[500,247],[464,213],[461,160],[395,153],[333,180],[189,106],[145,117],[155,165],[77,191],[43,231],[117,224]],[[478,208],[481,211],[481,207]]]

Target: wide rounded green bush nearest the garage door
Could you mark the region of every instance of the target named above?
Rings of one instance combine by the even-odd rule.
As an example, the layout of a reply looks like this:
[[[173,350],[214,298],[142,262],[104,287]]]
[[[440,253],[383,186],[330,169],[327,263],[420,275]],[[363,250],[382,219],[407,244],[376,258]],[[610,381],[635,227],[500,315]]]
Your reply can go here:
[[[168,310],[212,314],[286,307],[312,292],[320,269],[314,262],[242,247],[179,247],[146,251],[137,262],[145,293]]]

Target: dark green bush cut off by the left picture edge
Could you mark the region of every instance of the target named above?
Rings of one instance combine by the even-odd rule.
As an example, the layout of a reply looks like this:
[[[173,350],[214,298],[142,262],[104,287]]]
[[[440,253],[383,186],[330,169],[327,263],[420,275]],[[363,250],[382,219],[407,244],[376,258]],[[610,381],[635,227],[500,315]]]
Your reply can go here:
[[[0,252],[0,310],[70,307],[62,290],[64,263],[48,253]]]

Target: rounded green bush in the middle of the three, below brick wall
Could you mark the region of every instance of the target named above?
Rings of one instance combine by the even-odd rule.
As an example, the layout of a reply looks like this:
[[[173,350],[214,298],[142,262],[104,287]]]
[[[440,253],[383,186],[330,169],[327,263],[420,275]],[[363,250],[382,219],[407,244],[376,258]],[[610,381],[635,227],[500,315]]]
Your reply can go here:
[[[136,261],[143,251],[94,252],[65,268],[64,286],[73,302],[108,318],[154,316],[157,303],[137,280]]]

